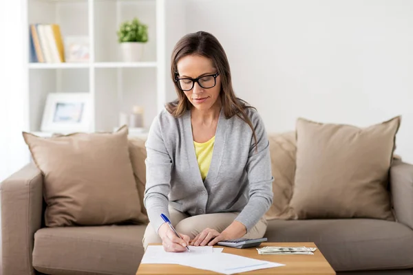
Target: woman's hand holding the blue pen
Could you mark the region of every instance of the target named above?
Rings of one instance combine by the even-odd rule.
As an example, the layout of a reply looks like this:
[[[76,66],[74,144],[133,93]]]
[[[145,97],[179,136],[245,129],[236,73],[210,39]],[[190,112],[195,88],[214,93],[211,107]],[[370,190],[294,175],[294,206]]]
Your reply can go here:
[[[189,245],[189,236],[180,234],[182,239],[176,236],[175,232],[169,228],[167,223],[160,225],[158,230],[160,239],[162,239],[162,245],[164,250],[167,252],[184,252],[187,250],[187,245]],[[179,234],[179,233],[178,233]]]

